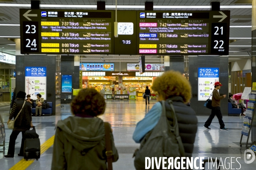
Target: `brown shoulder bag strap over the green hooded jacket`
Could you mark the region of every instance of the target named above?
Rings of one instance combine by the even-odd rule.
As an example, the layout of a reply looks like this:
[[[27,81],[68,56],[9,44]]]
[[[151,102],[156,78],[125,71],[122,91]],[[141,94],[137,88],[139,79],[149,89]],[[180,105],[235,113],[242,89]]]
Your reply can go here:
[[[111,140],[110,140],[111,127],[108,122],[104,122],[104,127],[105,127],[105,143],[106,143],[106,156],[107,156],[107,162],[108,162],[108,170],[113,170],[113,167],[112,167],[113,151],[111,149]]]

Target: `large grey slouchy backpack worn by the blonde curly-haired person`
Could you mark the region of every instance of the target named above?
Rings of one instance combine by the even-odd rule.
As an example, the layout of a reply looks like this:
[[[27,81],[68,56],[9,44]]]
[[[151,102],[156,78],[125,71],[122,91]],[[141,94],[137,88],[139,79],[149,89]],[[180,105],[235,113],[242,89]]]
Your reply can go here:
[[[166,102],[172,109],[172,125],[166,117]],[[184,157],[185,151],[179,135],[179,127],[172,100],[162,101],[162,115],[153,130],[140,142],[140,150],[135,150],[134,166],[136,170],[145,170],[145,157]],[[162,163],[162,161],[161,161]],[[168,164],[166,165],[166,167]],[[161,166],[162,167],[162,166]],[[154,161],[154,168],[156,164]],[[151,168],[150,168],[151,169]]]

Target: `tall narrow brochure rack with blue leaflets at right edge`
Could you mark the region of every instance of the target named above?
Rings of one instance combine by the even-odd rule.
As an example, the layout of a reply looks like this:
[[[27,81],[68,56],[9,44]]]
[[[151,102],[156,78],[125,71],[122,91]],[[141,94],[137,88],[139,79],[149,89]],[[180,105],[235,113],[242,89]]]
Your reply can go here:
[[[248,145],[248,141],[250,138],[250,132],[253,127],[253,118],[256,114],[256,94],[249,94],[249,102],[247,103],[247,110],[245,112],[244,117],[244,125],[242,125],[241,139],[240,139],[240,147],[242,147],[242,139],[243,136],[247,136],[247,141],[245,147]]]

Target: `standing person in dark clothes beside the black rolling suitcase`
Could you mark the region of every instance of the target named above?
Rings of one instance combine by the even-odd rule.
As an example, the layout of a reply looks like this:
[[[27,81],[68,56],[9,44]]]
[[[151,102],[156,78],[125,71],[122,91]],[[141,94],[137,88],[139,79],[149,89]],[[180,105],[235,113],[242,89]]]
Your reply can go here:
[[[19,91],[17,93],[17,101],[14,102],[12,106],[12,111],[9,116],[9,120],[7,124],[12,120],[12,118],[16,118],[14,129],[12,130],[12,134],[10,136],[9,141],[9,149],[7,155],[5,155],[6,158],[13,158],[14,152],[15,152],[15,141],[17,139],[17,136],[19,133],[22,133],[22,140],[21,140],[21,147],[20,147],[20,153],[18,156],[23,156],[23,149],[24,149],[24,133],[26,130],[29,130],[30,127],[33,127],[32,124],[32,116],[31,116],[31,105],[29,102],[26,102],[26,93],[23,91]],[[23,106],[24,105],[24,106]],[[21,110],[21,112],[20,112]],[[20,114],[18,115],[18,113]]]

